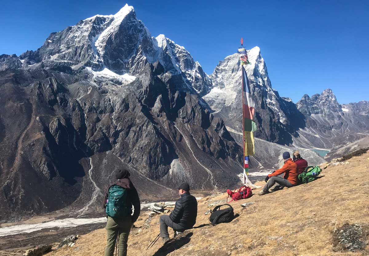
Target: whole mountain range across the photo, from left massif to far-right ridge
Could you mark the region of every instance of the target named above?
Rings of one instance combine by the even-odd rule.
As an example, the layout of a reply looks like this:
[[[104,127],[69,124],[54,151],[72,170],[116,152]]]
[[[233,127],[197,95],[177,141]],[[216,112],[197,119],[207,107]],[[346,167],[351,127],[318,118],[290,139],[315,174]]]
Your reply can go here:
[[[294,104],[272,89],[259,47],[246,71],[255,98],[255,170],[294,147],[331,149],[368,135],[368,102],[340,105],[330,89]],[[2,218],[93,210],[113,172],[128,168],[144,200],[224,190],[242,167],[237,54],[207,75],[131,6],[96,15],[20,56],[0,56]],[[302,149],[311,164],[324,161]]]

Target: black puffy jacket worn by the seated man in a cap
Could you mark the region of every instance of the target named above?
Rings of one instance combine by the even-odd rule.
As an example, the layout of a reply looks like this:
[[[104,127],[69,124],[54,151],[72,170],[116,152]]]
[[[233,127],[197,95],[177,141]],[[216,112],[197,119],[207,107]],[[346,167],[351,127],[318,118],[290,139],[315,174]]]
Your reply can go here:
[[[183,193],[181,198],[176,202],[176,206],[169,218],[184,229],[192,228],[196,223],[197,217],[197,200],[190,192]]]

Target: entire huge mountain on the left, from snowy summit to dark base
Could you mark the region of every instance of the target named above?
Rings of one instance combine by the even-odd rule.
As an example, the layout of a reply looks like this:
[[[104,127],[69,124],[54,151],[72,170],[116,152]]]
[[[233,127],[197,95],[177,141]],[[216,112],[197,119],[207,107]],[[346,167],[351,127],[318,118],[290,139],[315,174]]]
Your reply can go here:
[[[209,78],[182,46],[151,37],[130,6],[2,55],[1,70],[1,216],[86,214],[118,168],[142,200],[171,198],[183,180],[239,182],[242,149],[199,97]]]

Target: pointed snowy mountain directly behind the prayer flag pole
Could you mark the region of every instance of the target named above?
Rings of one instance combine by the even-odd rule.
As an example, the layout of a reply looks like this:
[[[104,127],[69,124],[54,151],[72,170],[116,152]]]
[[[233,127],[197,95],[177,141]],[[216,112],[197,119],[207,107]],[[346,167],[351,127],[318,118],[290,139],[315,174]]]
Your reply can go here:
[[[296,128],[304,125],[304,117],[295,104],[282,99],[272,89],[265,62],[259,47],[248,51],[251,65],[245,69],[255,101],[255,136],[280,144],[292,143]],[[203,97],[214,114],[223,118],[228,126],[242,131],[242,86],[238,54],[220,61],[210,75],[214,88]],[[298,120],[298,121],[296,121]]]

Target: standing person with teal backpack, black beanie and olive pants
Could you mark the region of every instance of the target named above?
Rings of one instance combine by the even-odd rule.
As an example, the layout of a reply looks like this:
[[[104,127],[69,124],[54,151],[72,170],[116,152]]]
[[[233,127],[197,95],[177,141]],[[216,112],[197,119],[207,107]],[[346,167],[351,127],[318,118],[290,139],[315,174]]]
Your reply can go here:
[[[103,207],[108,217],[106,223],[107,245],[105,256],[113,256],[115,242],[118,239],[119,256],[127,256],[127,241],[133,223],[140,213],[140,202],[136,188],[126,169],[117,170],[113,185],[105,193]],[[132,215],[132,205],[134,212]]]

